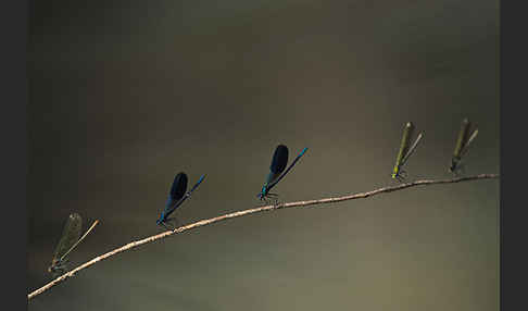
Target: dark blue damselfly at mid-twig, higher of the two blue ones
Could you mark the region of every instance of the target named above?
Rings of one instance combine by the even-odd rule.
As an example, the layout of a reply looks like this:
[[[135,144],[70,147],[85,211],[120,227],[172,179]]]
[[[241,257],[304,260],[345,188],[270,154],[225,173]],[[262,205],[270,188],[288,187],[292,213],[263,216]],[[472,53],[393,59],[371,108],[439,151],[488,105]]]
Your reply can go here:
[[[276,194],[269,194],[269,190],[282,179],[286,174],[296,165],[297,161],[306,152],[307,148],[302,149],[301,153],[291,162],[290,166],[285,171],[288,163],[288,147],[279,145],[275,149],[273,154],[272,165],[269,165],[269,174],[267,175],[266,183],[262,186],[262,190],[256,195],[261,200],[267,201],[268,197],[278,197]],[[282,173],[284,172],[284,173]]]

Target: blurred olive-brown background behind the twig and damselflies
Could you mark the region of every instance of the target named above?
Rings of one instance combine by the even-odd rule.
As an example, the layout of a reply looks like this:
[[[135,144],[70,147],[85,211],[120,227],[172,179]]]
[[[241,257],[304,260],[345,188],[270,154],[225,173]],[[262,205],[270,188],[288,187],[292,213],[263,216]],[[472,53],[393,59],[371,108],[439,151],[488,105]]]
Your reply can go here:
[[[282,201],[499,172],[499,1],[36,1],[28,43],[27,289],[64,221],[101,221],[74,266],[181,223],[253,208],[278,144],[310,150]],[[291,160],[290,160],[291,161]],[[201,227],[113,257],[29,310],[498,310],[499,183],[469,182]]]

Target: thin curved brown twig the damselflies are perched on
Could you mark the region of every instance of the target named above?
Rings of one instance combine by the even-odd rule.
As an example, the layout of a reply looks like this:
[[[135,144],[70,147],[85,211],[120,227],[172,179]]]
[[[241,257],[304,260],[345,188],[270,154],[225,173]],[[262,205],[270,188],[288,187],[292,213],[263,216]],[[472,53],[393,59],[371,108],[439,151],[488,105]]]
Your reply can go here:
[[[384,187],[384,188],[379,188],[379,189],[368,191],[368,192],[361,192],[361,194],[355,194],[355,195],[350,195],[350,196],[344,196],[344,197],[337,197],[337,198],[298,201],[298,202],[290,202],[290,203],[281,203],[281,204],[277,204],[277,206],[266,206],[266,207],[260,207],[260,208],[238,211],[238,212],[234,212],[234,213],[228,213],[228,214],[219,215],[219,216],[212,217],[212,219],[209,219],[209,220],[202,220],[202,221],[199,221],[199,222],[196,222],[196,223],[192,223],[192,224],[188,224],[188,225],[178,227],[174,231],[167,231],[167,232],[164,232],[164,233],[151,236],[151,237],[147,237],[147,238],[143,238],[143,239],[140,239],[140,240],[129,242],[125,246],[116,248],[116,249],[109,251],[104,254],[98,256],[98,257],[93,258],[92,260],[83,263],[81,265],[75,268],[74,270],[59,276],[58,278],[53,279],[52,282],[50,282],[50,283],[46,284],[45,286],[42,286],[42,287],[34,290],[33,293],[28,294],[27,299],[29,300],[29,299],[34,298],[35,296],[45,293],[46,290],[58,285],[59,283],[62,283],[66,278],[74,276],[77,272],[79,272],[84,269],[87,269],[88,266],[90,266],[90,265],[92,265],[92,264],[95,264],[95,263],[97,263],[101,260],[108,259],[108,258],[110,258],[114,254],[117,254],[117,253],[123,252],[123,251],[130,250],[130,249],[136,248],[140,245],[149,244],[149,242],[165,238],[165,237],[171,236],[171,235],[180,234],[183,232],[190,231],[190,229],[201,227],[201,226],[204,226],[204,225],[209,225],[209,224],[212,224],[212,223],[216,223],[216,222],[221,222],[221,221],[225,221],[225,220],[229,220],[229,219],[235,219],[235,217],[239,217],[239,216],[243,216],[243,215],[254,214],[254,213],[259,213],[259,212],[265,212],[265,211],[297,208],[297,207],[309,207],[309,206],[315,206],[315,204],[335,203],[335,202],[341,202],[341,201],[348,201],[348,200],[354,200],[354,199],[363,199],[363,198],[368,198],[370,196],[375,196],[375,195],[379,195],[379,194],[384,194],[384,192],[392,192],[392,191],[397,191],[397,190],[403,190],[405,188],[411,188],[411,187],[415,187],[415,186],[425,186],[425,185],[435,185],[435,184],[453,184],[453,183],[460,183],[460,182],[468,182],[468,181],[476,181],[476,179],[490,179],[490,178],[499,178],[499,174],[480,174],[480,175],[476,175],[476,176],[456,177],[456,178],[450,178],[450,179],[416,181],[416,182],[413,182],[413,183],[401,184],[401,185],[390,186],[390,187]]]

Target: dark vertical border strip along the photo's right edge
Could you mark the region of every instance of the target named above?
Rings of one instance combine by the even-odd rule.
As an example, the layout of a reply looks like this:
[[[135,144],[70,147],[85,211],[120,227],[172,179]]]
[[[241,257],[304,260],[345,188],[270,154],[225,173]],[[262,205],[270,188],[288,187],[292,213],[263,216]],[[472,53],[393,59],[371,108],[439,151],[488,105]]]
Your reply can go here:
[[[524,45],[526,15],[519,2],[500,1],[500,306],[501,310],[525,310],[523,268],[528,257],[524,254],[527,225],[525,212],[526,199],[523,198],[524,183],[519,166],[525,166],[527,157],[523,148],[513,152],[513,140],[523,145],[525,114],[519,108],[525,103],[526,47]],[[505,5],[504,5],[505,4]],[[515,8],[517,7],[518,8]],[[516,104],[517,103],[517,104]],[[520,139],[519,139],[520,138]],[[523,142],[521,142],[523,141]],[[519,146],[519,145],[517,145]],[[508,151],[506,151],[508,150]],[[510,152],[512,151],[512,152]],[[519,152],[523,151],[523,152]],[[515,198],[517,197],[517,198]],[[507,241],[505,238],[507,237]],[[517,241],[518,240],[518,241]],[[517,286],[519,284],[519,286]]]

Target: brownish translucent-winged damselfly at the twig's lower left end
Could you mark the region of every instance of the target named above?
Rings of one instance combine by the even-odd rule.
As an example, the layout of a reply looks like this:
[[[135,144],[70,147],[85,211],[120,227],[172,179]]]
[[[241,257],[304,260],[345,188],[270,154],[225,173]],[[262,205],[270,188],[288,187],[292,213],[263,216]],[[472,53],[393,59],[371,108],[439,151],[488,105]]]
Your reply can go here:
[[[74,250],[77,245],[85,239],[85,237],[96,227],[99,223],[98,220],[86,231],[86,233],[80,236],[83,231],[83,219],[79,214],[73,213],[67,217],[66,224],[62,232],[62,237],[56,245],[55,252],[53,253],[53,259],[51,260],[51,265],[48,268],[48,272],[58,273],[66,270],[66,256]]]

